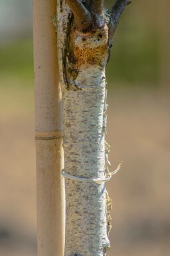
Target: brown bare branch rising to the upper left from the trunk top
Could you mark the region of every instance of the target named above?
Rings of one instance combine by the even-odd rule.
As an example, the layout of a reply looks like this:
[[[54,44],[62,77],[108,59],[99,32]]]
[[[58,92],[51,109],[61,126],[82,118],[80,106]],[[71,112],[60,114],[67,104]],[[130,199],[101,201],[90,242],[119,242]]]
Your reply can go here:
[[[92,26],[93,20],[90,11],[86,9],[80,0],[66,0],[73,15],[77,29],[86,30]]]

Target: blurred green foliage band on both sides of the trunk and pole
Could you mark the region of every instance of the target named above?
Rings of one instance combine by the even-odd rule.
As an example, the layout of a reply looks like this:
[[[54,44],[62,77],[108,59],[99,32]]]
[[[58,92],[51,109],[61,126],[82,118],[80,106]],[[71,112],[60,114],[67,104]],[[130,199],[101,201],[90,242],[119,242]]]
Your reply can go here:
[[[150,17],[143,18],[137,8],[137,3],[128,7],[116,31],[106,69],[108,87],[159,85],[161,47],[157,24],[149,21]],[[33,84],[32,38],[1,45],[0,60],[1,77],[17,77],[23,84]]]

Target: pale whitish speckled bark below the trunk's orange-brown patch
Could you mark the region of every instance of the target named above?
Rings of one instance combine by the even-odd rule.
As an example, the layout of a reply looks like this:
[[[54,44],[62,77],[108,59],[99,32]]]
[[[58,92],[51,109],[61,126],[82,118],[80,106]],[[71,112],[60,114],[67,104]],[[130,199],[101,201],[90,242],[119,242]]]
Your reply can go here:
[[[96,84],[99,74],[94,74],[96,70],[92,72],[92,66],[82,68],[84,70],[80,73],[84,74],[77,78],[82,90],[65,90],[63,93],[64,170],[78,177],[104,178],[105,84],[103,81]],[[105,184],[66,179],[65,186],[65,255],[103,255],[110,246],[106,228]]]

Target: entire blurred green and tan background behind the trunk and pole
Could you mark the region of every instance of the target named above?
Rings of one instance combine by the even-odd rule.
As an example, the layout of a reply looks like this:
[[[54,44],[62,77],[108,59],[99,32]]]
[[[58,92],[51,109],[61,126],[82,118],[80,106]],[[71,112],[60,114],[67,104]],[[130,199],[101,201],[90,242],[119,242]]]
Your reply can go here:
[[[112,1],[105,1],[106,7]],[[134,0],[107,68],[108,255],[170,255],[168,0]],[[0,0],[0,255],[37,255],[31,0]]]

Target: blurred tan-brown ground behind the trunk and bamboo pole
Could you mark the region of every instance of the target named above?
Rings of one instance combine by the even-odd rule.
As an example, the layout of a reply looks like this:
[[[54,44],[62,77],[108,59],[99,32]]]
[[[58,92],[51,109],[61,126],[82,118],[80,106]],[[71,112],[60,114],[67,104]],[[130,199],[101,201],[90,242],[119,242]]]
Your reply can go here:
[[[122,90],[108,99],[113,199],[110,240],[116,256],[170,255],[169,92]],[[1,88],[0,255],[35,256],[33,90]]]

